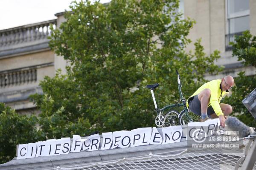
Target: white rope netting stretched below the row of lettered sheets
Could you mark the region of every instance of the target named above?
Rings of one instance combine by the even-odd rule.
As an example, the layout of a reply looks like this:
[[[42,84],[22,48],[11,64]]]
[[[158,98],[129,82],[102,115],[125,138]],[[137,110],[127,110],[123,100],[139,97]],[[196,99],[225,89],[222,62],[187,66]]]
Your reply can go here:
[[[248,144],[248,141],[247,139],[244,143]],[[232,150],[214,153],[214,149],[209,148],[200,149],[200,152],[197,149],[188,148],[177,150],[177,154],[150,153],[128,159],[57,167],[56,170],[241,170],[240,163],[243,162],[247,150],[244,147],[240,153],[232,153]],[[253,170],[256,170],[255,164]]]

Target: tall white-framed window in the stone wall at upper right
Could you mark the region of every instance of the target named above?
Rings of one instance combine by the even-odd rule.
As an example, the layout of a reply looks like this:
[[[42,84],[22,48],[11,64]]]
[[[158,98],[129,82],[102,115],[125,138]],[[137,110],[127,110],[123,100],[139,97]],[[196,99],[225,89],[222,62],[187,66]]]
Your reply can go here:
[[[250,29],[249,0],[226,0],[226,6],[226,51],[230,51],[232,46],[229,43],[234,41],[235,35],[241,35],[243,31]]]

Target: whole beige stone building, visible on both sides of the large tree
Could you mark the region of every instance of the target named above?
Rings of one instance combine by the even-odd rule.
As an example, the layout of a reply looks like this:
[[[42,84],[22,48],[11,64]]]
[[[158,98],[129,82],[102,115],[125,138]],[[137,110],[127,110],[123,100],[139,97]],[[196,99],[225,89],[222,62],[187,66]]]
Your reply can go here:
[[[192,42],[202,38],[201,44],[208,55],[214,50],[221,52],[216,64],[225,66],[223,73],[206,74],[207,79],[218,79],[227,74],[236,77],[239,71],[246,71],[246,75],[255,74],[255,68],[244,67],[237,57],[232,57],[229,45],[234,35],[242,31],[249,29],[256,34],[255,8],[255,0],[180,0],[179,11],[184,12],[184,18],[196,21],[189,33]],[[58,68],[65,73],[67,63],[48,45],[49,24],[58,28],[64,21],[63,13],[55,16],[56,20],[0,30],[0,102],[19,113],[36,111],[28,96],[42,93],[38,84],[44,76],[53,77]],[[190,44],[186,51],[193,48]]]

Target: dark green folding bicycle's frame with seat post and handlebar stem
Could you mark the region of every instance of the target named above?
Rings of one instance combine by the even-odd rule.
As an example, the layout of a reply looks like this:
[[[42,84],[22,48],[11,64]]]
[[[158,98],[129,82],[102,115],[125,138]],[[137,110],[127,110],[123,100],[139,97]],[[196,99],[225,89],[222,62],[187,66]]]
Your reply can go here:
[[[178,82],[178,90],[179,90],[179,94],[180,94],[179,102],[182,102],[182,103],[177,102],[176,104],[167,105],[167,106],[165,106],[161,109],[157,108],[157,102],[156,102],[156,99],[155,99],[155,96],[154,96],[154,89],[150,89],[151,94],[152,94],[152,98],[153,98],[153,101],[154,101],[154,106],[155,106],[155,109],[156,109],[155,111],[157,112],[157,116],[161,115],[161,113],[163,113],[166,109],[174,108],[174,107],[181,107],[181,106],[183,106],[183,108],[186,112],[186,116],[188,115],[189,110],[186,107],[186,99],[183,98],[182,91],[181,91],[182,85],[181,85],[181,82],[180,82],[180,74],[178,73],[177,70],[176,70],[176,73],[177,73],[177,77],[178,77],[177,82]],[[179,116],[180,116],[180,114],[179,114]],[[189,120],[191,120],[189,116],[187,116],[187,118],[189,118]]]

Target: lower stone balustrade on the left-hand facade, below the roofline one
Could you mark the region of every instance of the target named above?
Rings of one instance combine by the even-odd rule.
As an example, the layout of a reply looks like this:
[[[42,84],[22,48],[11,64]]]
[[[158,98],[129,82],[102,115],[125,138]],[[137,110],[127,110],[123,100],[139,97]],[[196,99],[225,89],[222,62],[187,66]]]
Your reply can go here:
[[[0,87],[5,88],[14,85],[22,85],[24,83],[32,83],[37,81],[37,69],[25,69],[20,71],[9,71],[0,74]]]

